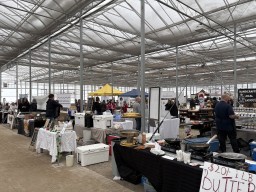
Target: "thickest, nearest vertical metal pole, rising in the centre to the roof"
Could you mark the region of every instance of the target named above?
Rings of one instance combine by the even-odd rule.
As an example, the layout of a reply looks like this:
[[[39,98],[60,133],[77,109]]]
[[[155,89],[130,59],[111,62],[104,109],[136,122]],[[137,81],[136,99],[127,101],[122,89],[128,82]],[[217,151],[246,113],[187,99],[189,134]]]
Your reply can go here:
[[[145,1],[141,0],[141,131],[145,132]]]

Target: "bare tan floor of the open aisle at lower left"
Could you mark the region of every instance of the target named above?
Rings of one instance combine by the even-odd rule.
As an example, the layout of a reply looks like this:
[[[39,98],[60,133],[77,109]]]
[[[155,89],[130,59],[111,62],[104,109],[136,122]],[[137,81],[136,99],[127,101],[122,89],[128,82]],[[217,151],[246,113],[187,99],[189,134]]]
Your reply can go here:
[[[51,163],[29,149],[31,138],[0,124],[0,192],[143,192],[142,185],[113,181],[111,161],[81,167]]]

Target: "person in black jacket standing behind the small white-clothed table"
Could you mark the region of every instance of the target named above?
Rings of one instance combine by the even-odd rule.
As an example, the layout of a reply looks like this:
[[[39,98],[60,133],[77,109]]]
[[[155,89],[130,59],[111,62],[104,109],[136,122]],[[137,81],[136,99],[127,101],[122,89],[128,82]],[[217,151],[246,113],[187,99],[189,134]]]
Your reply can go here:
[[[54,100],[54,95],[50,94],[48,96],[48,101],[46,102],[46,117],[54,120],[58,117],[57,109],[63,108],[61,104],[59,104],[57,101]]]

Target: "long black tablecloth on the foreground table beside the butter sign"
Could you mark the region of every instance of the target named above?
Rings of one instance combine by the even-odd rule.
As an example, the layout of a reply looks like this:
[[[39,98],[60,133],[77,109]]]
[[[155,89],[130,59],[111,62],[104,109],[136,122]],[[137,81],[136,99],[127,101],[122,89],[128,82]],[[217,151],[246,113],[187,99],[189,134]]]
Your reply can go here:
[[[133,174],[147,177],[159,192],[198,192],[200,189],[202,169],[198,167],[156,156],[147,149],[123,147],[118,142],[113,150],[119,174],[124,179],[134,171]]]

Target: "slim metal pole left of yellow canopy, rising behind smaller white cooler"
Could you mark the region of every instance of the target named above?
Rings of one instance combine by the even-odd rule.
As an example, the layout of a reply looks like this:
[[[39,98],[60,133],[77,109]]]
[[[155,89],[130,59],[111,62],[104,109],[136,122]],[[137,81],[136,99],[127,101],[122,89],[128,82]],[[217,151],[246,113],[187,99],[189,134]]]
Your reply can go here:
[[[82,11],[81,11],[82,16]],[[83,19],[80,18],[80,112],[83,112],[84,107],[84,55],[83,55]]]

